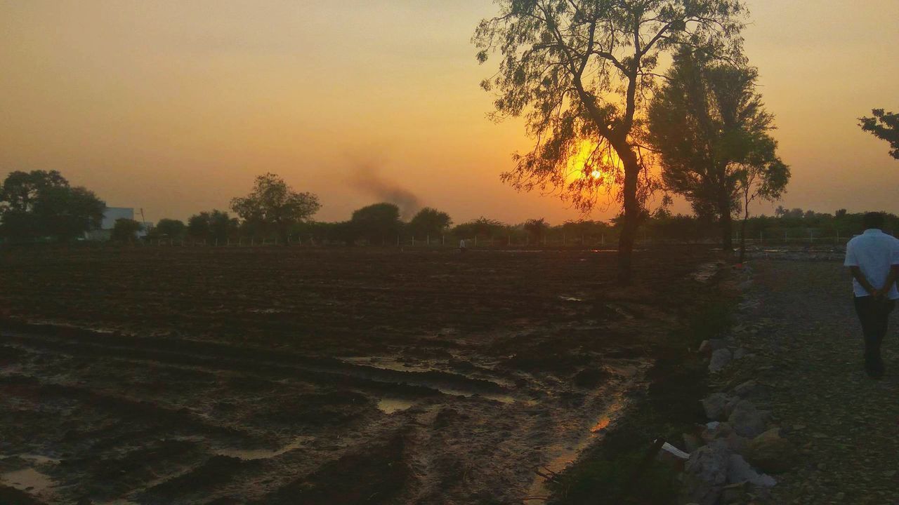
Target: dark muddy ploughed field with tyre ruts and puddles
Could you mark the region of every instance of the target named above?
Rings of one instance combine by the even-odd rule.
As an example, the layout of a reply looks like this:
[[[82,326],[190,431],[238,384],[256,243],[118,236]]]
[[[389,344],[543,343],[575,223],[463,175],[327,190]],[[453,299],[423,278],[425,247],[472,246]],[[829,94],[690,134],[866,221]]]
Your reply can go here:
[[[521,503],[710,253],[0,250],[0,502]]]

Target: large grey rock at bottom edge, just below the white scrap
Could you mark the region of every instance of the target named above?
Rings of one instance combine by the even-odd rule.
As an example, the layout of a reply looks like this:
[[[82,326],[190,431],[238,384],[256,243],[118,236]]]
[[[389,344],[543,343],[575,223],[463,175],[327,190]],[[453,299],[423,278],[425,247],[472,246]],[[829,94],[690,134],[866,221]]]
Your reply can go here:
[[[684,501],[715,505],[727,483],[729,456],[721,440],[693,452],[684,465]]]

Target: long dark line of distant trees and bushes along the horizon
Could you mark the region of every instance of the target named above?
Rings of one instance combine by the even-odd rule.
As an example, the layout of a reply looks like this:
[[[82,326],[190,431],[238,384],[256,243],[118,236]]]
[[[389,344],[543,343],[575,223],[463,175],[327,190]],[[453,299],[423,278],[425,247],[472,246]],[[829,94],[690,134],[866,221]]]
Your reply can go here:
[[[100,226],[105,204],[92,191],[71,187],[56,171],[13,172],[0,186],[0,237],[9,240],[56,240],[69,242]],[[184,223],[163,218],[148,230],[144,240],[177,243],[228,244],[238,241],[261,244],[396,245],[416,243],[469,245],[589,245],[617,244],[624,218],[610,222],[580,220],[552,225],[543,217],[507,224],[478,217],[455,224],[448,213],[423,208],[408,221],[400,209],[388,202],[375,203],[352,212],[339,222],[315,221],[320,208],[316,195],[297,192],[277,175],[256,178],[254,189],[233,199],[229,214],[212,209],[195,214]],[[862,231],[862,213],[838,209],[832,214],[802,208],[778,207],[774,216],[743,219],[734,238],[761,239],[767,244],[814,242],[832,239],[844,242]],[[111,239],[123,244],[138,242],[142,224],[118,219]],[[899,233],[899,217],[886,215],[887,233]],[[641,218],[638,241],[715,243],[721,238],[720,219],[714,212],[692,216],[672,215],[666,206]],[[448,241],[449,239],[449,241]]]

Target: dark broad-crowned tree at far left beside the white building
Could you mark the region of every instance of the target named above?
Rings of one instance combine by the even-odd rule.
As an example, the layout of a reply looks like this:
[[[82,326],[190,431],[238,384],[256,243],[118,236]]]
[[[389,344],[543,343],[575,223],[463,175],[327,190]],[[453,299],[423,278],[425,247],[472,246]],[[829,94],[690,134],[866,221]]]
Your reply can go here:
[[[15,239],[68,241],[99,227],[104,208],[92,191],[69,186],[55,170],[13,172],[0,187],[0,232]]]

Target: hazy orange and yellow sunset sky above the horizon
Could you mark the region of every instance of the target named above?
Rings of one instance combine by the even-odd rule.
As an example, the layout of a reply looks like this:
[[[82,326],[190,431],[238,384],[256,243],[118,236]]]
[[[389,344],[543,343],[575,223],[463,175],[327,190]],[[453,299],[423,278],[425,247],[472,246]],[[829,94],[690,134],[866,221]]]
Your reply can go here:
[[[899,111],[899,2],[748,5],[746,51],[793,171],[781,203],[899,213],[899,162],[856,124]],[[265,172],[317,193],[320,220],[377,200],[360,173],[457,223],[576,218],[499,181],[530,139],[520,121],[485,118],[492,97],[478,83],[495,67],[477,65],[470,38],[496,9],[0,0],[0,177],[56,169],[152,221],[227,208]]]

